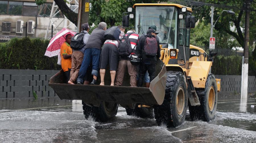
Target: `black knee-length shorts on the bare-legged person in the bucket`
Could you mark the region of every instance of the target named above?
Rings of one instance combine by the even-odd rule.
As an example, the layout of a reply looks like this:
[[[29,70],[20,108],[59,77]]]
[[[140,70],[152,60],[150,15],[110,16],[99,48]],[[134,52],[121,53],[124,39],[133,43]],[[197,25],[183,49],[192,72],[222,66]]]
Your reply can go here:
[[[109,65],[109,70],[117,70],[119,59],[118,49],[113,44],[104,44],[100,54],[100,68],[106,69]]]

